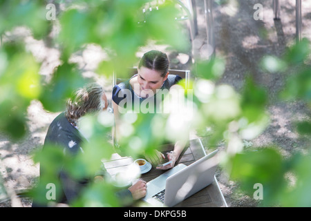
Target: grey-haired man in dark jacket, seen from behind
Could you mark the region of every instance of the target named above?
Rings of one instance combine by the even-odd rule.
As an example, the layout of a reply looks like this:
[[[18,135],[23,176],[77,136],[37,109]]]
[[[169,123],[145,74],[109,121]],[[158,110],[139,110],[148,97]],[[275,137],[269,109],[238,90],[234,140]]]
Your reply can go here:
[[[87,84],[84,88],[79,88],[68,99],[66,111],[60,113],[48,127],[44,148],[46,146],[55,146],[63,148],[63,153],[71,157],[83,154],[82,144],[86,138],[79,132],[79,119],[86,114],[99,113],[108,107],[107,97],[99,84]],[[40,176],[44,175],[45,170],[40,166]],[[52,179],[58,180],[61,185],[59,198],[53,202],[69,204],[77,199],[82,189],[91,182],[91,177],[85,177],[83,180],[75,180],[73,177],[61,169],[56,172],[57,177]],[[95,175],[94,175],[95,177]],[[146,182],[140,180],[129,189],[117,192],[117,197],[129,200],[142,198],[146,193]],[[45,202],[37,202],[34,199],[32,206],[48,206],[48,199]]]

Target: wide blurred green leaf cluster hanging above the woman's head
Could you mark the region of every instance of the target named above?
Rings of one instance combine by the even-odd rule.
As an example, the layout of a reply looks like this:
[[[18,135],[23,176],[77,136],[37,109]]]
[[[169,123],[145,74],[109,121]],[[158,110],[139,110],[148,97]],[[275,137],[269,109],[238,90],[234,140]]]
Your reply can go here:
[[[110,60],[103,61],[104,65],[112,64],[122,77],[126,68],[135,63],[138,48],[151,39],[164,41],[179,50],[189,48],[187,37],[180,35],[180,24],[175,21],[180,14],[176,3],[165,1],[158,5],[158,10],[153,8],[142,13],[149,2],[91,1],[91,5],[75,2],[82,9],[70,8],[59,18],[62,30],[57,40],[62,44],[63,57],[68,58],[84,44],[98,44],[109,54]]]

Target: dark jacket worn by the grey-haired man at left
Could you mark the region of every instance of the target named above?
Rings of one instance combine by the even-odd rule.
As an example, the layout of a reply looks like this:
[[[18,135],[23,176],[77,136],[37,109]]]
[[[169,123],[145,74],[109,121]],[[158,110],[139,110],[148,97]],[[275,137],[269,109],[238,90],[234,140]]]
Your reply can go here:
[[[78,153],[83,153],[82,143],[87,142],[86,138],[79,133],[77,128],[68,122],[68,119],[65,116],[65,113],[59,114],[48,128],[46,134],[46,139],[44,140],[44,147],[52,144],[57,148],[60,146],[64,148],[63,152],[66,155],[75,157]],[[79,192],[88,184],[91,179],[85,177],[82,180],[74,180],[68,176],[66,171],[59,171],[57,180],[59,180],[60,185],[62,186],[61,193],[59,198],[53,200],[53,202],[65,203],[68,204],[75,200],[79,195]],[[44,175],[44,169],[40,167],[40,176]],[[48,191],[48,189],[46,190]],[[120,198],[132,198],[131,192],[126,189],[117,193],[117,197]],[[48,203],[48,201],[47,201]],[[46,204],[37,204],[34,199],[32,206],[46,206]]]

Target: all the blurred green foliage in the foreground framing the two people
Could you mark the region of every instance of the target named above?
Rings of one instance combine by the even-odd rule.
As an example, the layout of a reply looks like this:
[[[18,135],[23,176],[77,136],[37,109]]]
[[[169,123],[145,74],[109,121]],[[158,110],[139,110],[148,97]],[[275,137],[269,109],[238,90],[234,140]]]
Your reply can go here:
[[[46,111],[64,111],[72,91],[87,81],[79,68],[70,63],[73,53],[87,44],[100,46],[106,52],[107,57],[97,68],[99,75],[111,76],[116,71],[121,77],[137,61],[135,53],[150,40],[173,46],[178,51],[189,50],[188,37],[175,19],[180,8],[174,1],[165,1],[159,10],[142,13],[142,8],[150,6],[149,3],[148,0],[79,0],[72,5],[62,1],[65,9],[57,11],[57,21],[48,21],[45,1],[0,1],[0,35],[6,36],[1,38],[0,50],[1,133],[10,135],[12,142],[23,138],[27,130],[27,108],[33,99],[39,100]],[[62,62],[50,81],[39,75],[41,64],[26,50],[23,39],[8,39],[7,34],[19,26],[29,28],[36,39],[44,41],[51,28],[59,26],[52,46],[59,49]],[[309,41],[303,39],[289,48],[284,57],[269,55],[261,61],[263,70],[270,73],[294,70],[281,93],[282,99],[301,99],[310,106],[309,55]],[[264,205],[310,206],[309,153],[284,160],[274,147],[243,151],[244,141],[252,140],[269,124],[265,90],[251,78],[245,81],[241,94],[232,86],[218,84],[225,71],[225,59],[198,61],[192,69],[195,78],[188,82],[187,88],[185,81],[180,83],[181,88],[187,89],[178,95],[183,102],[171,105],[168,113],[122,116],[124,131],[120,146],[124,154],[133,157],[150,154],[162,142],[187,140],[191,131],[204,131],[209,133],[211,146],[225,141],[227,155],[223,165],[232,179],[241,183],[241,189],[252,195],[254,184],[261,183]],[[164,106],[170,102],[173,101],[167,102],[165,97]],[[46,171],[32,191],[41,200],[46,200],[47,183],[59,185],[53,177],[60,168],[81,179],[99,171],[101,160],[111,157],[113,146],[104,136],[113,126],[111,114],[86,116],[81,124],[89,140],[83,146],[84,154],[70,157],[55,146],[35,153],[34,161],[40,162]],[[310,125],[310,121],[297,122],[297,131],[310,135]],[[285,179],[288,173],[294,177],[294,184]],[[91,183],[72,206],[120,206],[114,191],[115,187],[109,183]]]

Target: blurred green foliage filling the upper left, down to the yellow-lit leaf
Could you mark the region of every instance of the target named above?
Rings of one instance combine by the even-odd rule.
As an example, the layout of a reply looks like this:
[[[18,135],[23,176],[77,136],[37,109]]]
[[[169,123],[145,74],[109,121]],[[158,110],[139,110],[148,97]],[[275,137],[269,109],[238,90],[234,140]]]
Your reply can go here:
[[[26,109],[31,99],[39,99],[47,111],[64,110],[65,101],[72,91],[86,82],[76,65],[69,61],[70,56],[86,44],[102,46],[109,55],[99,65],[99,75],[111,75],[112,70],[119,75],[126,73],[136,61],[135,52],[151,39],[164,41],[179,50],[189,48],[187,37],[179,34],[180,23],[175,21],[175,17],[180,11],[175,4],[166,1],[159,5],[159,10],[143,14],[142,8],[147,3],[147,0],[81,0],[75,1],[73,7],[64,2],[66,9],[57,12],[59,35],[53,41],[61,50],[62,64],[55,68],[52,80],[48,82],[39,75],[40,64],[25,50],[22,39],[1,41],[0,90],[3,97],[0,109],[1,113],[6,113],[1,116],[1,131],[13,139],[23,137]],[[48,10],[44,1],[1,1],[0,10],[1,37],[16,27],[24,26],[35,37],[45,40],[51,27],[57,25],[55,21],[46,19]],[[8,97],[10,100],[6,100]]]

